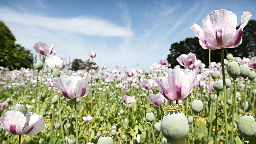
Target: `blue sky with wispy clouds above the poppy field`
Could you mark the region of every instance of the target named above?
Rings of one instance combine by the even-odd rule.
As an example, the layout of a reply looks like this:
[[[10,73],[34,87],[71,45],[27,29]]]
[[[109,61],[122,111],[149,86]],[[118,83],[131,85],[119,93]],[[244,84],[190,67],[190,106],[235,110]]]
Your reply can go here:
[[[0,0],[0,19],[27,49],[38,41],[55,43],[56,55],[88,59],[113,69],[148,68],[166,59],[169,47],[195,37],[190,27],[215,9],[241,21],[243,11],[256,19],[255,0]]]

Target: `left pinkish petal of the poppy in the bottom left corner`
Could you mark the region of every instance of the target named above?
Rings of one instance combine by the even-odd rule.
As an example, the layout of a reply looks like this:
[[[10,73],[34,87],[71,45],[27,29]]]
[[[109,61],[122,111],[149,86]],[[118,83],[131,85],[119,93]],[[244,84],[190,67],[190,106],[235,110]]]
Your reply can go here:
[[[7,111],[0,117],[2,127],[13,135],[22,134],[26,120],[26,116],[20,111]]]

